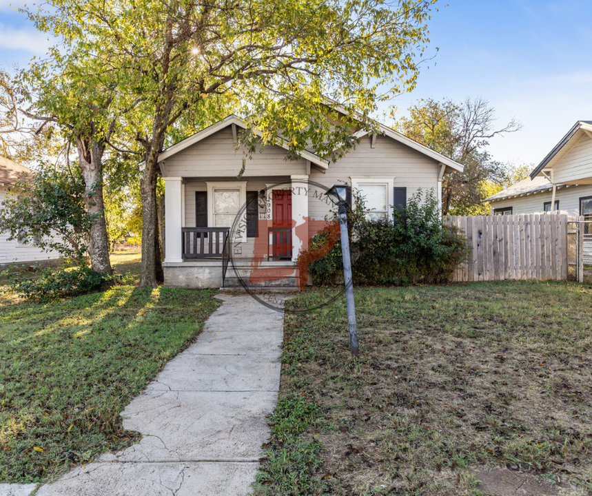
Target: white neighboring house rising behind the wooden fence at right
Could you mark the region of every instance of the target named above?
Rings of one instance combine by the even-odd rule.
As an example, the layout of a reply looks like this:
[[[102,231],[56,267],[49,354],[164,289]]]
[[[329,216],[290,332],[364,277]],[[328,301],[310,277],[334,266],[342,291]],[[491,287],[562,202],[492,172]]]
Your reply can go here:
[[[491,214],[560,211],[592,220],[592,121],[578,121],[529,178],[486,198]]]

